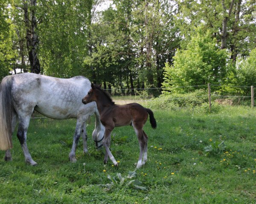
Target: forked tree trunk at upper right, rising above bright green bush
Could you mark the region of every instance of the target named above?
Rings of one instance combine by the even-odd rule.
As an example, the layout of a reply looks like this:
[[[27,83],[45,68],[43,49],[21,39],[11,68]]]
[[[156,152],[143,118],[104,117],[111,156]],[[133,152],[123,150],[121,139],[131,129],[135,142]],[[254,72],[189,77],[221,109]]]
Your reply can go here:
[[[227,13],[225,0],[222,0],[223,20],[222,20],[222,34],[221,34],[221,49],[227,48],[227,21],[230,17],[232,9],[233,9],[234,1],[235,0],[231,1],[230,8],[229,8],[228,13]]]

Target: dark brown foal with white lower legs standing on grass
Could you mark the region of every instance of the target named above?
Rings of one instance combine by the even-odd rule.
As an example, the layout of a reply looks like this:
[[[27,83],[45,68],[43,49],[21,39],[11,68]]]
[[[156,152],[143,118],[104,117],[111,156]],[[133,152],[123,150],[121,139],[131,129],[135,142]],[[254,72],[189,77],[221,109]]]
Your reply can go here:
[[[137,162],[137,168],[140,168],[147,161],[148,136],[143,130],[143,126],[148,119],[153,128],[157,127],[157,122],[153,112],[144,108],[138,103],[129,103],[126,105],[116,105],[111,97],[101,89],[101,86],[91,84],[91,89],[88,94],[82,99],[84,104],[95,101],[100,114],[100,121],[105,126],[105,134],[103,146],[106,153],[104,163],[108,162],[108,156],[115,166],[118,165],[113,157],[110,147],[111,132],[114,127],[132,125],[137,135],[140,144],[140,156]]]

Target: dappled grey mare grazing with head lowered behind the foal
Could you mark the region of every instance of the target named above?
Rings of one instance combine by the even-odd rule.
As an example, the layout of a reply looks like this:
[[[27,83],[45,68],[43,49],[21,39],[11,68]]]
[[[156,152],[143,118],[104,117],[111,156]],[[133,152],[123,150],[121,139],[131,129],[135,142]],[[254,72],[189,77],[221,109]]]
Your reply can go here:
[[[88,152],[85,122],[93,114],[96,116],[93,140],[96,147],[102,146],[105,127],[100,122],[96,103],[82,103],[82,98],[90,90],[90,85],[89,79],[81,76],[60,79],[23,73],[3,78],[0,84],[0,149],[6,150],[5,160],[12,160],[12,134],[19,122],[17,137],[25,161],[31,165],[37,164],[26,144],[29,121],[34,110],[52,119],[77,119],[73,145],[69,153],[71,162],[76,161],[75,152],[80,136],[83,139],[84,153]]]

